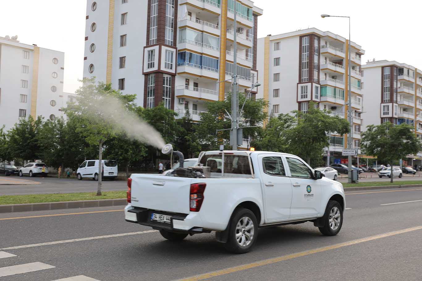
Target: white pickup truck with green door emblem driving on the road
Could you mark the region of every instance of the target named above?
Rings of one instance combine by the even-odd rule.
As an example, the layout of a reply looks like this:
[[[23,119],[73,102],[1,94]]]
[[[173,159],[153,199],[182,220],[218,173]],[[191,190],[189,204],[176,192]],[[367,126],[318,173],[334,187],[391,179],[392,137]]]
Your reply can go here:
[[[215,231],[234,253],[248,252],[260,227],[314,222],[324,235],[341,229],[343,186],[295,155],[207,151],[198,163],[211,168],[208,177],[177,176],[177,170],[175,176],[132,174],[126,221],[160,230],[168,240]]]

